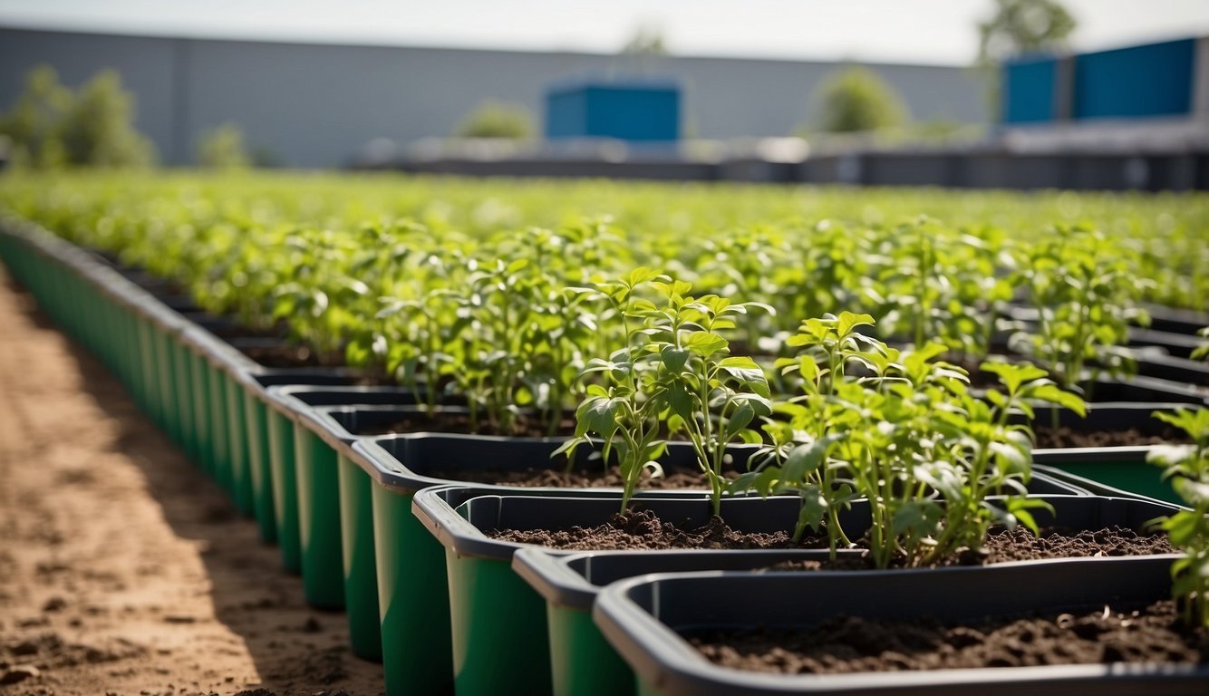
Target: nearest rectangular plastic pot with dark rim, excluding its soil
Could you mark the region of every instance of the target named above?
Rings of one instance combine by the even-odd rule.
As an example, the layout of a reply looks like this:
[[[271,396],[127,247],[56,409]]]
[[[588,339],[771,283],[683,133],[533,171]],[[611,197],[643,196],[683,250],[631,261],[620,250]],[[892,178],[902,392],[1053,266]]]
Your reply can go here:
[[[1098,610],[1106,604],[1141,607],[1170,596],[1174,558],[1064,558],[899,572],[655,574],[606,587],[596,601],[594,619],[637,673],[643,695],[1199,695],[1209,683],[1205,665],[754,673],[708,662],[677,632],[809,626],[835,615],[907,621],[927,616],[960,622]],[[742,601],[718,599],[735,597]],[[787,597],[793,601],[787,602]]]

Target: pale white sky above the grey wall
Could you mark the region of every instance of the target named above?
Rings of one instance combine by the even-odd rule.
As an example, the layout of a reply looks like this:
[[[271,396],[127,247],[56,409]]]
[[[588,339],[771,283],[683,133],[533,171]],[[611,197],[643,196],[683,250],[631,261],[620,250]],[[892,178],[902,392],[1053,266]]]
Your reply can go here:
[[[968,64],[991,0],[0,0],[0,25],[173,36]],[[1209,35],[1209,0],[1064,0],[1076,50]]]

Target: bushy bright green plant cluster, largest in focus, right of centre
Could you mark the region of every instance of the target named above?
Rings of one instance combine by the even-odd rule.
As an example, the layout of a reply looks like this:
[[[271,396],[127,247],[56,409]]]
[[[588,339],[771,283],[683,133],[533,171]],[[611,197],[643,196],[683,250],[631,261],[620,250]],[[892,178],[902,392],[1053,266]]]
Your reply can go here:
[[[1003,389],[982,401],[961,369],[937,360],[944,346],[901,353],[855,332],[870,324],[849,313],[803,323],[794,343],[805,353],[783,369],[802,373],[805,394],[777,407],[788,427],[769,423],[774,443],[735,488],[799,493],[796,538],[826,518],[833,552],[850,545],[839,510],[868,499],[866,541],[879,568],[929,566],[980,549],[994,524],[1036,530],[1029,510],[1042,504],[1024,487],[1031,433],[1011,416],[1031,417],[1035,402],[1082,411],[1082,400],[1035,366],[987,362]]]

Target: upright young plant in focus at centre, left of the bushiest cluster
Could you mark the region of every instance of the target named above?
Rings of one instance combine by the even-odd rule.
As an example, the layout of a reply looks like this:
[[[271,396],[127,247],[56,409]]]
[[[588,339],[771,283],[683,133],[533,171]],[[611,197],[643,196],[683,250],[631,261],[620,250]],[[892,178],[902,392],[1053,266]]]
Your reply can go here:
[[[635,297],[650,283],[659,304]],[[654,456],[669,435],[679,433],[693,446],[710,481],[713,514],[725,489],[727,446],[759,442],[748,425],[770,413],[764,373],[751,358],[731,356],[722,331],[735,329],[735,317],[757,303],[731,304],[717,295],[693,297],[692,285],[640,268],[618,283],[597,285],[625,318],[626,344],[608,360],[594,359],[585,375],[601,384],[588,387],[577,411],[575,435],[560,448],[568,456],[589,434],[617,451],[624,480],[623,509],[644,466],[656,468]],[[634,321],[631,324],[631,321]]]

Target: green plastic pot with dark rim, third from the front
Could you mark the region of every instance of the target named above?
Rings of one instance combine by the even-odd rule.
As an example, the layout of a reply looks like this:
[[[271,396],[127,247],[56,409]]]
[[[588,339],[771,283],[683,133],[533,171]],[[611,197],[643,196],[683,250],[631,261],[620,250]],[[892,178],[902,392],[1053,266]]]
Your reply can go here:
[[[549,674],[549,648],[544,611],[533,610],[533,590],[517,578],[504,573],[520,544],[490,539],[484,532],[493,528],[510,529],[569,529],[601,524],[618,511],[620,495],[585,499],[578,492],[562,495],[531,497],[526,492],[482,494],[482,489],[449,486],[421,491],[412,501],[412,511],[445,547],[449,576],[449,602],[452,625],[453,660],[458,694],[486,694],[491,674],[502,665],[526,665]],[[1043,497],[1051,501],[1063,526],[1122,523],[1140,528],[1149,520],[1169,509],[1140,500],[1091,497]],[[686,526],[700,526],[710,520],[706,498],[647,498],[638,505],[664,520]],[[727,498],[722,516],[727,523],[744,532],[779,532],[793,529],[798,516],[798,500],[792,497]],[[1036,516],[1042,526],[1054,523],[1046,514]],[[861,533],[868,527],[868,507],[860,504],[840,517],[845,529]],[[526,636],[515,640],[494,628],[488,620],[492,607],[509,607],[510,631]],[[536,604],[540,607],[540,604]],[[549,692],[553,685],[534,680],[526,683],[532,692]]]

